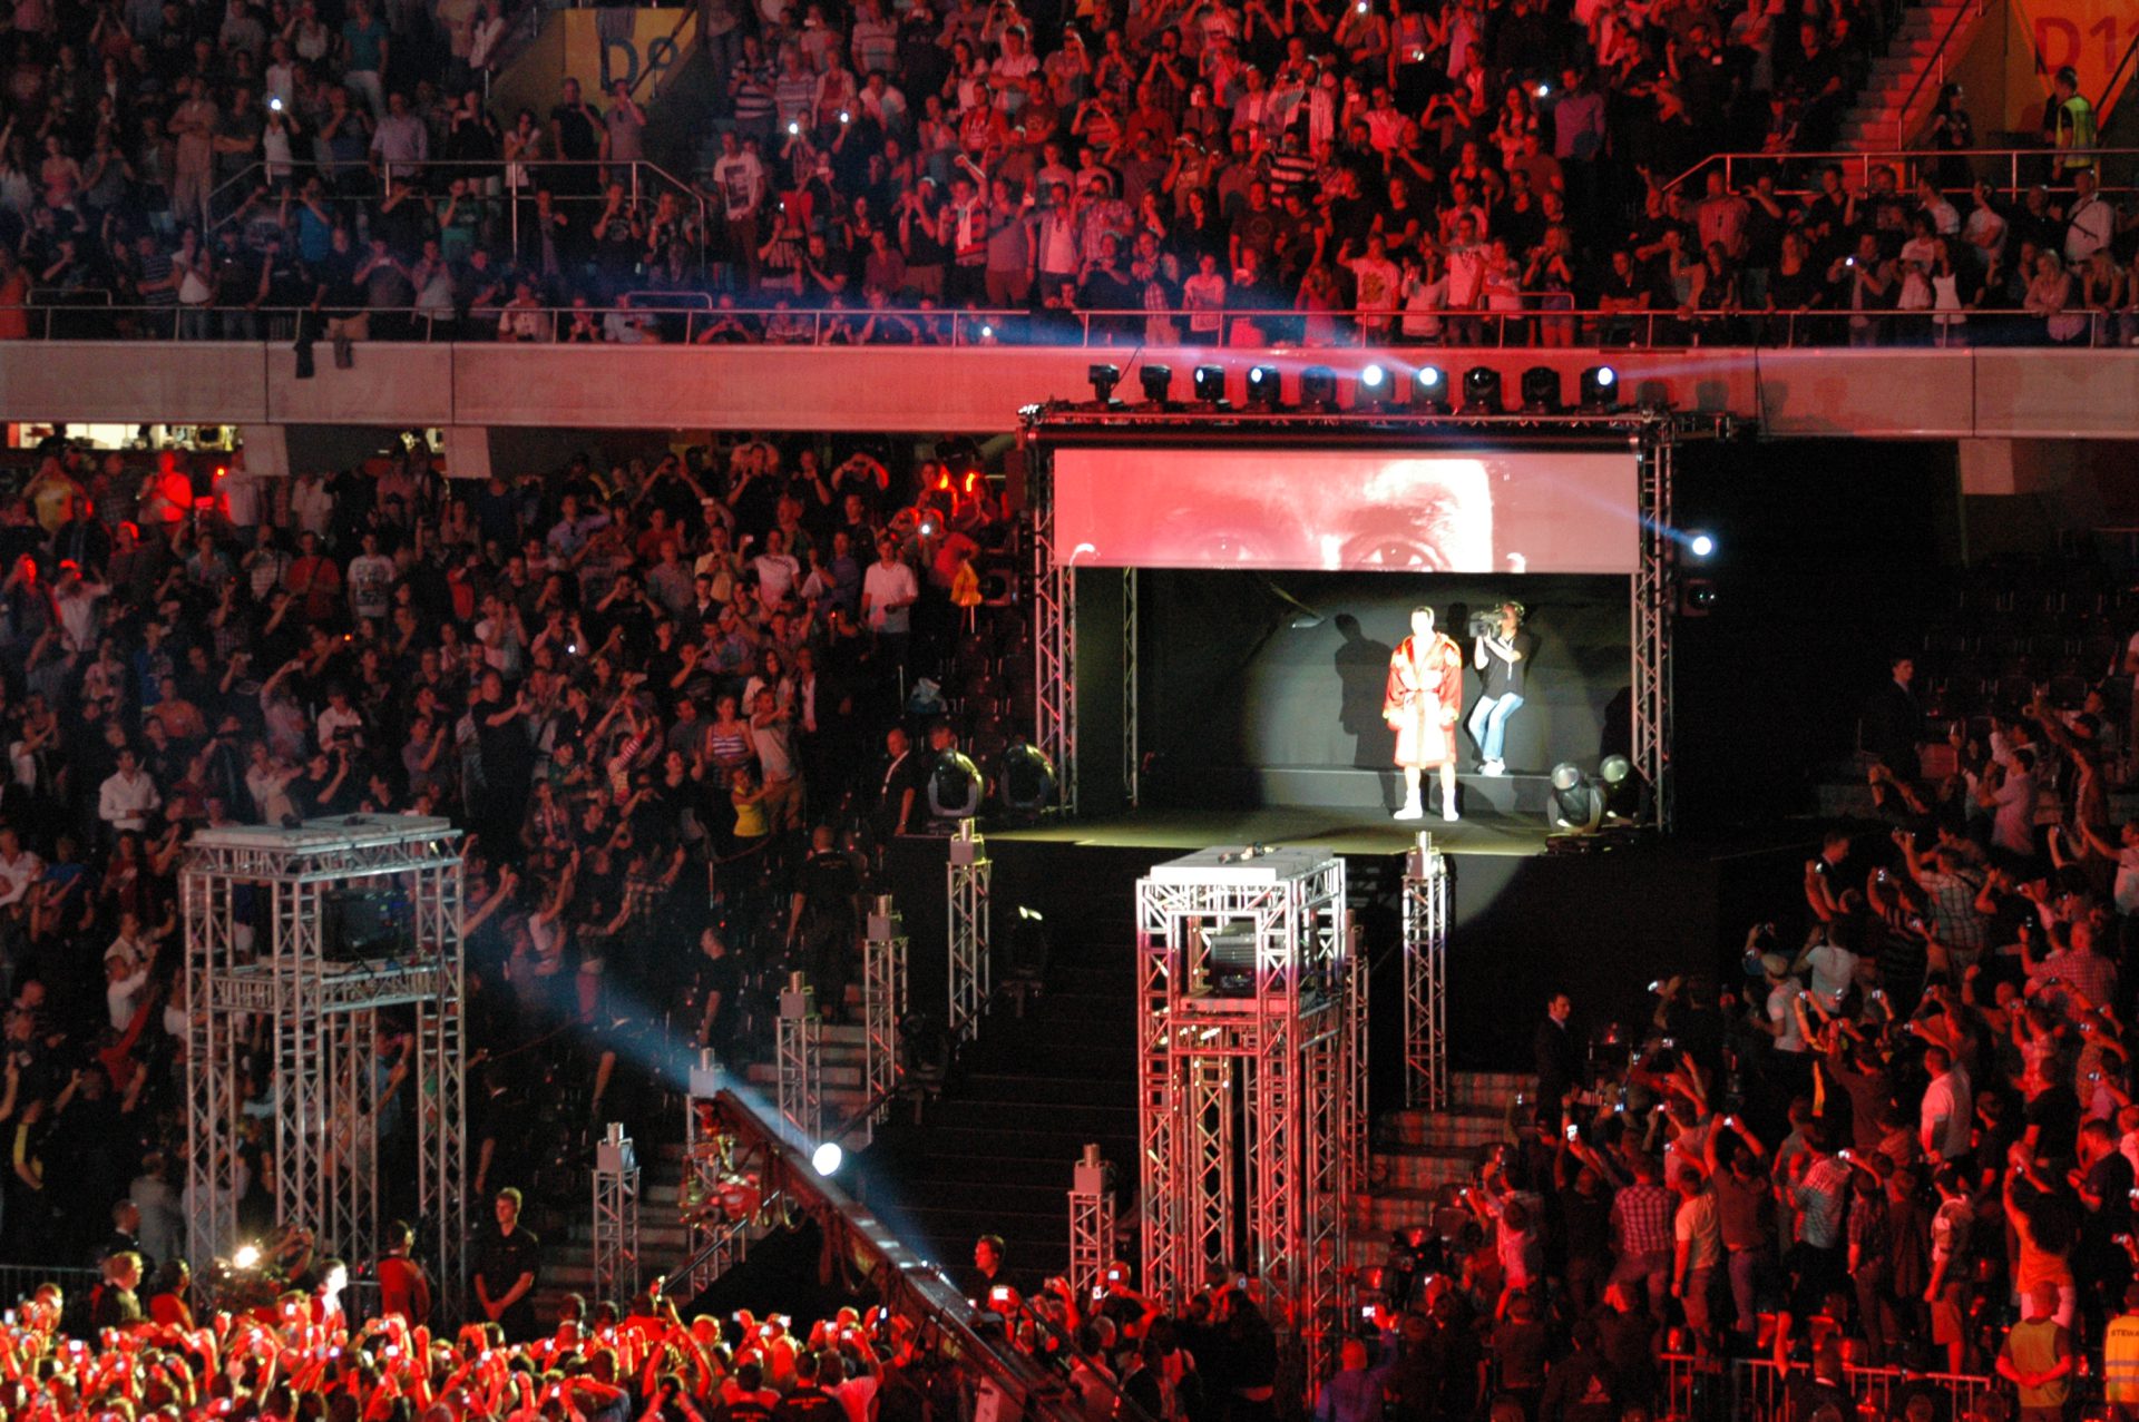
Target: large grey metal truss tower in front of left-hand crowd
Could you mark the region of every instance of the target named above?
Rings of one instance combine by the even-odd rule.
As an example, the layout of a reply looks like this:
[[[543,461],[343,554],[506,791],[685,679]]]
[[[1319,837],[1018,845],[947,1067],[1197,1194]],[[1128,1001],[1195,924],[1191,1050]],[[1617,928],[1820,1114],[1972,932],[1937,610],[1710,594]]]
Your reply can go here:
[[[276,1221],[372,1257],[381,1185],[413,1174],[419,1236],[458,1309],[468,1234],[460,832],[445,819],[364,815],[201,830],[180,894],[195,1268],[237,1245],[246,1106],[267,1101]]]

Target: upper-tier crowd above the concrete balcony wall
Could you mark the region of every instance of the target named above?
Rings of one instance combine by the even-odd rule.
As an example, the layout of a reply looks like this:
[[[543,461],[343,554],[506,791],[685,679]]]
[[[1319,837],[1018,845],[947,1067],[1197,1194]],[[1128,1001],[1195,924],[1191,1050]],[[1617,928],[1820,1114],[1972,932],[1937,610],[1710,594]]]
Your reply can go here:
[[[1831,145],[1899,15],[708,0],[678,184],[627,81],[486,109],[498,0],[39,0],[0,36],[0,338],[2139,338],[2092,158],[1671,182]],[[2094,143],[2062,77],[2045,139]],[[1974,143],[1953,98],[1936,143]]]

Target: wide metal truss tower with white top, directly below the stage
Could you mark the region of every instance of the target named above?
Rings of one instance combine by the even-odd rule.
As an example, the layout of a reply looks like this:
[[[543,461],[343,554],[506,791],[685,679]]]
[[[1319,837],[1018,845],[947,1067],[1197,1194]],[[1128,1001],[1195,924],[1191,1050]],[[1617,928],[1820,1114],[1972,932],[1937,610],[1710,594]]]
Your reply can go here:
[[[1204,849],[1136,885],[1144,1289],[1245,1266],[1318,1358],[1341,1328],[1352,1050],[1343,860]]]

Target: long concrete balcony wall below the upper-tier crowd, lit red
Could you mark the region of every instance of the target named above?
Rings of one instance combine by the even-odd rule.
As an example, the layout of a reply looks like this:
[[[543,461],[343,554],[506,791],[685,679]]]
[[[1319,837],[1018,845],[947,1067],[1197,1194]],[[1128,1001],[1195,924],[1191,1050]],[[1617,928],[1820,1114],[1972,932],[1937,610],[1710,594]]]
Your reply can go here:
[[[965,432],[1016,428],[1018,408],[1087,400],[1087,370],[1172,368],[1189,398],[1198,361],[1283,372],[1294,400],[1307,366],[1339,376],[1386,361],[1397,383],[1431,359],[1461,381],[1487,364],[1508,398],[1529,366],[1561,372],[1572,398],[1585,366],[1609,361],[1636,400],[1728,411],[1778,436],[2130,438],[2139,434],[2139,351],[1224,351],[1206,349],[817,349],[817,346],[498,346],[361,344],[355,366],[319,361],[295,378],[287,346],[240,342],[0,342],[0,419],[229,426],[488,426],[563,430]]]

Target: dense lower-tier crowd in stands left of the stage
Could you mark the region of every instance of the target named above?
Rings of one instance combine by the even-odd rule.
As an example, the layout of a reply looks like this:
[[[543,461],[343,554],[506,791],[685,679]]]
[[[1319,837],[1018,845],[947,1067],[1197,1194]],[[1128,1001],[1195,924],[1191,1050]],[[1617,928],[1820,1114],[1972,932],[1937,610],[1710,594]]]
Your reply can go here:
[[[975,567],[1014,526],[978,453],[941,453],[738,440],[449,483],[421,443],[261,479],[51,440],[0,513],[0,1257],[90,1264],[116,1225],[182,1253],[175,875],[203,825],[466,828],[471,1185],[530,1187],[543,1227],[663,1063],[751,1058],[789,969],[843,1016],[877,851],[928,828],[922,727],[954,744],[954,710],[988,759],[1029,695]],[[366,1095],[417,1219],[409,1033],[381,1026]],[[255,1232],[272,1052],[244,1069]]]

